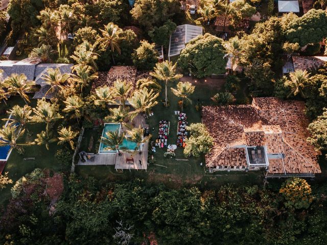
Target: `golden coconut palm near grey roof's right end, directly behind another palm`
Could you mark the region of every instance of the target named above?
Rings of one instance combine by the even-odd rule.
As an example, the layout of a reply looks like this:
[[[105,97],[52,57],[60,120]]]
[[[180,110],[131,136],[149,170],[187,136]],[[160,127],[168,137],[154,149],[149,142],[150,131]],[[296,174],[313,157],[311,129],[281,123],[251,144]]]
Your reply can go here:
[[[76,47],[74,55],[71,58],[77,63],[73,66],[73,70],[77,66],[90,66],[92,70],[97,70],[98,66],[96,60],[98,59],[98,42],[90,44],[88,41],[84,41]]]

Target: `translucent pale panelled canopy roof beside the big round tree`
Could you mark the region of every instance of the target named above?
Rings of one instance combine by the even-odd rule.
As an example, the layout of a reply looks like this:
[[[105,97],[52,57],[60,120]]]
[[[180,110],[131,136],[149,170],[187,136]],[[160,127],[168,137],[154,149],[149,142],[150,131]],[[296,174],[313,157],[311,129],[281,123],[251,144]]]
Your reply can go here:
[[[202,27],[192,24],[178,26],[170,36],[168,57],[179,55],[185,44],[199,35],[202,35]]]

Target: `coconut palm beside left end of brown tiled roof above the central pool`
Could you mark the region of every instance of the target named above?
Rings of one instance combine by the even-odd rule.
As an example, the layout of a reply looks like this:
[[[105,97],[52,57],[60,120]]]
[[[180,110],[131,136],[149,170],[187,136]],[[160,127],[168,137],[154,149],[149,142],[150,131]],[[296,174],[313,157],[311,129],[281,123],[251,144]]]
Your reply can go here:
[[[92,67],[88,65],[79,65],[75,66],[73,72],[75,74],[71,75],[71,81],[76,83],[80,88],[81,92],[83,92],[83,88],[88,86],[91,81],[98,78],[98,73],[91,74]]]

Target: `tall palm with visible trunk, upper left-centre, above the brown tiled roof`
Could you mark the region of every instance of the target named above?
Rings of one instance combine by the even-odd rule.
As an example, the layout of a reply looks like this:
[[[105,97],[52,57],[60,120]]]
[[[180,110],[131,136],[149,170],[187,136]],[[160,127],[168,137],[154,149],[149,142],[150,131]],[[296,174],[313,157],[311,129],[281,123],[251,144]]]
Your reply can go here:
[[[120,36],[123,32],[121,28],[119,28],[116,24],[109,22],[107,26],[104,26],[104,30],[100,30],[102,33],[102,38],[100,38],[100,43],[104,48],[108,48],[110,46],[112,61],[113,64],[114,58],[113,53],[116,50],[118,54],[121,54],[121,48],[119,46],[122,37]]]

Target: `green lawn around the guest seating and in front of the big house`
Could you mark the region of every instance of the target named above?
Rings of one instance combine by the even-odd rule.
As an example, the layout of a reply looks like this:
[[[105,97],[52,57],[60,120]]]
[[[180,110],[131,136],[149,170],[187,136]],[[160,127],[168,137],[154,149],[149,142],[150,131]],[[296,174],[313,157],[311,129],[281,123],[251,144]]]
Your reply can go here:
[[[184,78],[184,80],[191,81],[191,78]],[[201,122],[201,113],[196,110],[196,104],[199,100],[200,105],[211,105],[211,97],[220,91],[223,81],[219,81],[217,86],[213,82],[210,85],[204,82],[204,79],[197,80],[194,85],[196,86],[194,94],[192,94],[192,105],[188,105],[184,108],[184,112],[188,116],[188,124]],[[168,86],[168,98],[170,100],[170,107],[164,107],[162,102],[165,99],[165,87],[162,87],[160,96],[158,98],[158,105],[153,109],[154,116],[151,116],[147,120],[149,124],[150,132],[153,135],[153,140],[158,136],[158,126],[159,121],[166,119],[170,121],[170,134],[168,136],[168,144],[175,144],[177,140],[177,122],[178,118],[175,116],[174,111],[180,110],[178,107],[179,99],[173,95],[171,92],[171,87],[176,87],[177,82],[170,83]],[[152,131],[154,128],[154,131]],[[100,130],[101,131],[101,130]],[[82,148],[87,149],[89,137],[93,135],[94,139],[98,139],[101,132],[97,131],[86,131],[85,140],[82,142]],[[96,140],[94,145],[96,144]],[[97,147],[99,144],[97,144]],[[97,149],[92,149],[96,152]],[[130,180],[131,178],[140,178],[145,179],[149,182],[163,182],[171,187],[178,187],[182,184],[198,184],[202,185],[214,185],[219,186],[223,183],[262,183],[263,174],[258,171],[248,172],[239,171],[239,172],[219,172],[216,174],[208,174],[205,169],[205,163],[203,158],[187,158],[188,161],[178,161],[176,159],[186,159],[183,155],[183,149],[177,148],[175,150],[176,158],[165,158],[164,153],[167,151],[167,148],[158,149],[156,148],[156,153],[149,152],[149,157],[154,156],[156,162],[148,166],[147,171],[128,171],[124,170],[116,171],[114,166],[77,166],[76,172],[84,176],[93,176],[96,179],[101,180],[101,182],[108,181],[125,181]],[[200,166],[200,163],[203,163]]]

